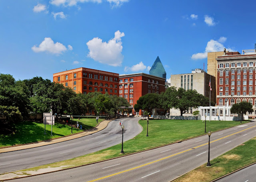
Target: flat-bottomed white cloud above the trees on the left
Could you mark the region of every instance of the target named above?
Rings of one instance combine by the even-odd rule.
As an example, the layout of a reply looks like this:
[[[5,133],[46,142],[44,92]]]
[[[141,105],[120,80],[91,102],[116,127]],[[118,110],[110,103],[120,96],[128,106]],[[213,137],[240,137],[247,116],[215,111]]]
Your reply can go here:
[[[48,51],[53,54],[61,54],[67,50],[67,48],[62,43],[54,43],[50,37],[45,37],[44,41],[42,41],[38,47],[34,45],[31,49],[36,53]]]

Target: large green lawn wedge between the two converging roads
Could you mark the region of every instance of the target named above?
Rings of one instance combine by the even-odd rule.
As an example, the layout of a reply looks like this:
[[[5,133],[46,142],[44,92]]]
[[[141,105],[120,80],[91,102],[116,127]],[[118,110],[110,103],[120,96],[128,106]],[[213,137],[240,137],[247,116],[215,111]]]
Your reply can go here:
[[[120,144],[118,145],[97,151],[95,153],[76,157],[74,159],[55,162],[33,169],[37,170],[39,168],[47,168],[48,166],[78,166],[81,164],[88,164],[90,162],[127,155],[130,153],[143,151],[145,149],[173,143],[177,140],[189,139],[191,137],[204,134],[204,123],[200,120],[149,120],[149,137],[146,137],[147,121],[140,120],[139,123],[142,125],[143,131],[133,139],[124,142],[124,154],[120,154],[122,142],[122,137],[120,137]],[[124,131],[126,131],[126,127],[128,126],[126,126],[125,122],[123,124],[125,126]],[[211,121],[206,123],[206,129],[207,131],[209,131],[209,129],[211,131],[218,131],[220,129],[232,127],[235,125],[240,125],[240,121]]]

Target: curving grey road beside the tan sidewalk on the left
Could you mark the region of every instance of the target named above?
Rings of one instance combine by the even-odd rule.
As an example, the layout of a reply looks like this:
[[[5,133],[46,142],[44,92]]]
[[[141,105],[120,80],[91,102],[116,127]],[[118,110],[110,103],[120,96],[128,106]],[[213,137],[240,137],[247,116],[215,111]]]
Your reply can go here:
[[[121,118],[125,126],[124,141],[132,139],[142,131],[142,127],[138,124],[139,119],[142,117]],[[119,121],[120,119],[113,120],[102,131],[78,139],[22,151],[1,153],[0,173],[72,159],[121,143],[122,129]]]

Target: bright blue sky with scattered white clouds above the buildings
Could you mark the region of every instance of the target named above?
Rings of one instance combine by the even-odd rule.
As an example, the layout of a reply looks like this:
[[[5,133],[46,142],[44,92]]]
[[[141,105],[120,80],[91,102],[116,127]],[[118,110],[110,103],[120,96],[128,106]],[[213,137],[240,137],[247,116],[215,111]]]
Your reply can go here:
[[[249,6],[248,6],[249,5]],[[255,1],[1,0],[0,73],[16,80],[79,67],[171,74],[207,69],[207,52],[254,49]]]

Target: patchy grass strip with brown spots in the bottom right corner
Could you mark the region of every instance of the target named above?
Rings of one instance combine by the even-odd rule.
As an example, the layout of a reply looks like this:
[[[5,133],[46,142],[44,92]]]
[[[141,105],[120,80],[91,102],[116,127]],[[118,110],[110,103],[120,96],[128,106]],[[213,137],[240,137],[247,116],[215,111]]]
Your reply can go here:
[[[206,164],[203,164],[174,180],[174,182],[210,182],[236,169],[256,162],[256,137],[244,144],[211,160],[211,167],[206,167]]]

